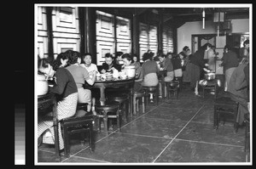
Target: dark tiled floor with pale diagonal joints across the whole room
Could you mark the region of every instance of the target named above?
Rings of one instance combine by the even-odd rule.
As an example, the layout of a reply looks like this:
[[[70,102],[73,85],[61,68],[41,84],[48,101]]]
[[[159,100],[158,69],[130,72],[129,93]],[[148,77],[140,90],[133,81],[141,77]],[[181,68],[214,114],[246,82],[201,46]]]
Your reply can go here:
[[[245,128],[234,133],[232,121],[226,121],[216,131],[212,122],[213,95],[198,98],[189,87],[183,88],[178,99],[160,99],[158,106],[149,104],[144,114],[140,111],[130,117],[121,132],[115,127],[108,136],[104,130],[95,131],[95,152],[74,135],[70,157],[61,152],[60,165],[249,165],[244,152]],[[56,161],[54,146],[42,144],[38,148],[38,163]]]

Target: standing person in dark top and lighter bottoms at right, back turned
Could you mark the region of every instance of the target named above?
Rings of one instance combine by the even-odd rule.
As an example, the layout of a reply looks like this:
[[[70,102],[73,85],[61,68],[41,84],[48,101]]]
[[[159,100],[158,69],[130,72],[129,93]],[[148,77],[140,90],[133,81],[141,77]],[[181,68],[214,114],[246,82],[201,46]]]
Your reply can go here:
[[[220,66],[224,67],[224,75],[225,75],[224,91],[226,92],[228,90],[230,77],[238,65],[238,58],[237,58],[237,54],[230,49],[230,46],[225,45],[224,56],[222,59],[223,59],[223,62]]]

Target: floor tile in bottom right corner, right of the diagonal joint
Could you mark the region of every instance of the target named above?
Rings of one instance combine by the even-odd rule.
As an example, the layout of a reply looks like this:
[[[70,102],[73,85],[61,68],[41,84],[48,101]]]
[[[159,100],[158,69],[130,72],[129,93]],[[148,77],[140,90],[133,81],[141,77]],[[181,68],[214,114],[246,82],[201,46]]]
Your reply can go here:
[[[241,147],[205,144],[174,139],[155,163],[245,162]]]

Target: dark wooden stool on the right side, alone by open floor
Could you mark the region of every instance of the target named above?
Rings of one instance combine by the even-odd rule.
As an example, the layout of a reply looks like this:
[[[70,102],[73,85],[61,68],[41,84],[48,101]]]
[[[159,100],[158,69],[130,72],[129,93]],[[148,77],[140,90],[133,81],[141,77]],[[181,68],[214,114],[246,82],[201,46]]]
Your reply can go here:
[[[213,127],[215,127],[216,130],[218,129],[218,120],[220,118],[220,115],[224,115],[224,114],[233,115],[234,116],[234,132],[237,132],[238,130],[238,124],[236,122],[237,110],[238,110],[238,103],[231,100],[230,98],[221,97],[221,98],[215,99]]]

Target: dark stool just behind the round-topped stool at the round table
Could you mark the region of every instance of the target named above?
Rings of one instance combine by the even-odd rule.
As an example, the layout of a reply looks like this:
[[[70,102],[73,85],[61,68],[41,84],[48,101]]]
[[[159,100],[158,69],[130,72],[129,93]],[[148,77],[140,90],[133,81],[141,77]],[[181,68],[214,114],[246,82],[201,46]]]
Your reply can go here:
[[[108,101],[116,101],[119,102],[120,107],[119,107],[119,114],[122,113],[122,110],[125,110],[125,121],[128,119],[128,114],[131,115],[131,110],[130,110],[130,95],[128,93],[114,93],[112,95],[108,96]]]

